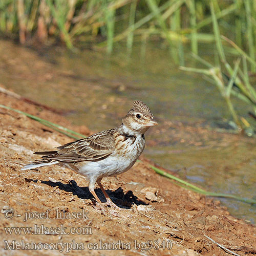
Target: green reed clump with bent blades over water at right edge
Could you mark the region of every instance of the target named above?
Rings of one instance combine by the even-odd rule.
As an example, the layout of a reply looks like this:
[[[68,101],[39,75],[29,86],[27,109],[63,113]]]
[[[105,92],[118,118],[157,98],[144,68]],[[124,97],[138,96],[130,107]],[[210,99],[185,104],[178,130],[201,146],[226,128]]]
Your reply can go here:
[[[218,56],[221,60],[221,63],[217,66],[211,65],[206,60],[203,60],[197,55],[194,57],[199,60],[203,65],[205,65],[208,69],[198,69],[198,68],[187,68],[181,67],[182,70],[189,72],[197,72],[208,77],[211,77],[211,81],[213,81],[218,87],[221,95],[226,101],[230,114],[233,117],[234,122],[236,122],[238,126],[238,130],[242,128],[246,128],[249,125],[249,122],[244,117],[239,117],[237,112],[234,109],[233,103],[231,101],[231,94],[239,97],[240,99],[246,101],[251,105],[254,113],[256,113],[256,91],[250,84],[250,79],[248,76],[247,69],[247,60],[250,62],[251,67],[254,69],[255,61],[252,55],[248,56],[241,48],[239,48],[233,41],[228,39],[225,36],[221,36],[220,28],[217,20],[215,7],[217,5],[216,0],[210,1],[210,11],[212,17],[212,26],[215,34],[216,47],[218,50]],[[248,13],[247,13],[248,14]],[[233,67],[228,63],[225,56],[225,51],[223,48],[223,40],[228,42],[236,51],[237,54],[240,55],[236,61],[234,61]],[[250,43],[249,43],[250,44]],[[242,66],[241,69],[241,59]],[[226,79],[227,78],[227,79]],[[227,80],[227,81],[226,81]]]

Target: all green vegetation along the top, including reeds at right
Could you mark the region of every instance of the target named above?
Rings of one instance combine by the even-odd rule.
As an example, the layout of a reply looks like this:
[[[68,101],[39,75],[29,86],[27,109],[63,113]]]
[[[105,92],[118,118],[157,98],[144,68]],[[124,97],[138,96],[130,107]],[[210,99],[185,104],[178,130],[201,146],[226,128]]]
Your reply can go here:
[[[88,45],[109,54],[115,44],[126,44],[129,54],[134,44],[161,41],[180,66],[189,45],[200,69],[181,68],[216,84],[237,130],[254,134],[254,123],[238,116],[230,95],[250,105],[255,122],[256,0],[2,0],[0,32],[21,44],[62,41],[72,50]],[[198,55],[201,42],[217,49],[217,63]]]

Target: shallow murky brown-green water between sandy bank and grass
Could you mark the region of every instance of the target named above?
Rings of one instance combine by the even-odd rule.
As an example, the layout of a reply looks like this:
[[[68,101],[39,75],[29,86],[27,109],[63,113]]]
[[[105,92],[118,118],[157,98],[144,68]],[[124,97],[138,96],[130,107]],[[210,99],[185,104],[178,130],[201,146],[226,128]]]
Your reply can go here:
[[[200,56],[215,58],[212,46],[200,49]],[[132,101],[143,100],[160,124],[146,136],[146,157],[206,190],[255,198],[255,139],[212,131],[229,127],[230,120],[217,88],[201,75],[181,71],[161,45],[142,53],[140,47],[131,56],[123,47],[112,56],[58,47],[38,53],[2,40],[1,83],[40,103],[71,110],[68,119],[95,132],[119,125]],[[185,64],[195,67],[188,53]],[[234,103],[246,117],[248,106]],[[221,201],[231,214],[255,223],[256,207]]]

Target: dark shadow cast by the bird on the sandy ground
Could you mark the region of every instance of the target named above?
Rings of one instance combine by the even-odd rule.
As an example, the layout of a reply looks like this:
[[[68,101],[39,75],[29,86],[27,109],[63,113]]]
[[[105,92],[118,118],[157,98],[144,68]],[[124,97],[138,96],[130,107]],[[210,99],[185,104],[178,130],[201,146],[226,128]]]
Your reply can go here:
[[[37,180],[30,180],[29,182],[31,182],[31,181],[37,182]],[[67,192],[72,192],[72,194],[74,196],[77,196],[78,198],[81,198],[81,199],[91,199],[91,200],[93,199],[93,196],[89,191],[89,188],[88,187],[79,187],[74,180],[70,180],[69,183],[67,183],[67,184],[63,184],[60,181],[53,182],[50,180],[49,181],[41,180],[40,182],[44,183],[46,185],[49,185],[51,187],[58,186],[59,189],[67,191]],[[105,199],[100,188],[95,188],[95,193],[97,194],[97,196],[99,197],[101,202],[106,202],[106,199]],[[123,189],[121,187],[119,187],[115,191],[107,189],[106,193],[108,193],[111,200],[121,208],[130,209],[133,204],[146,205],[146,203],[139,200],[138,197],[136,197],[133,194],[133,191],[131,191],[131,190],[124,193]]]

